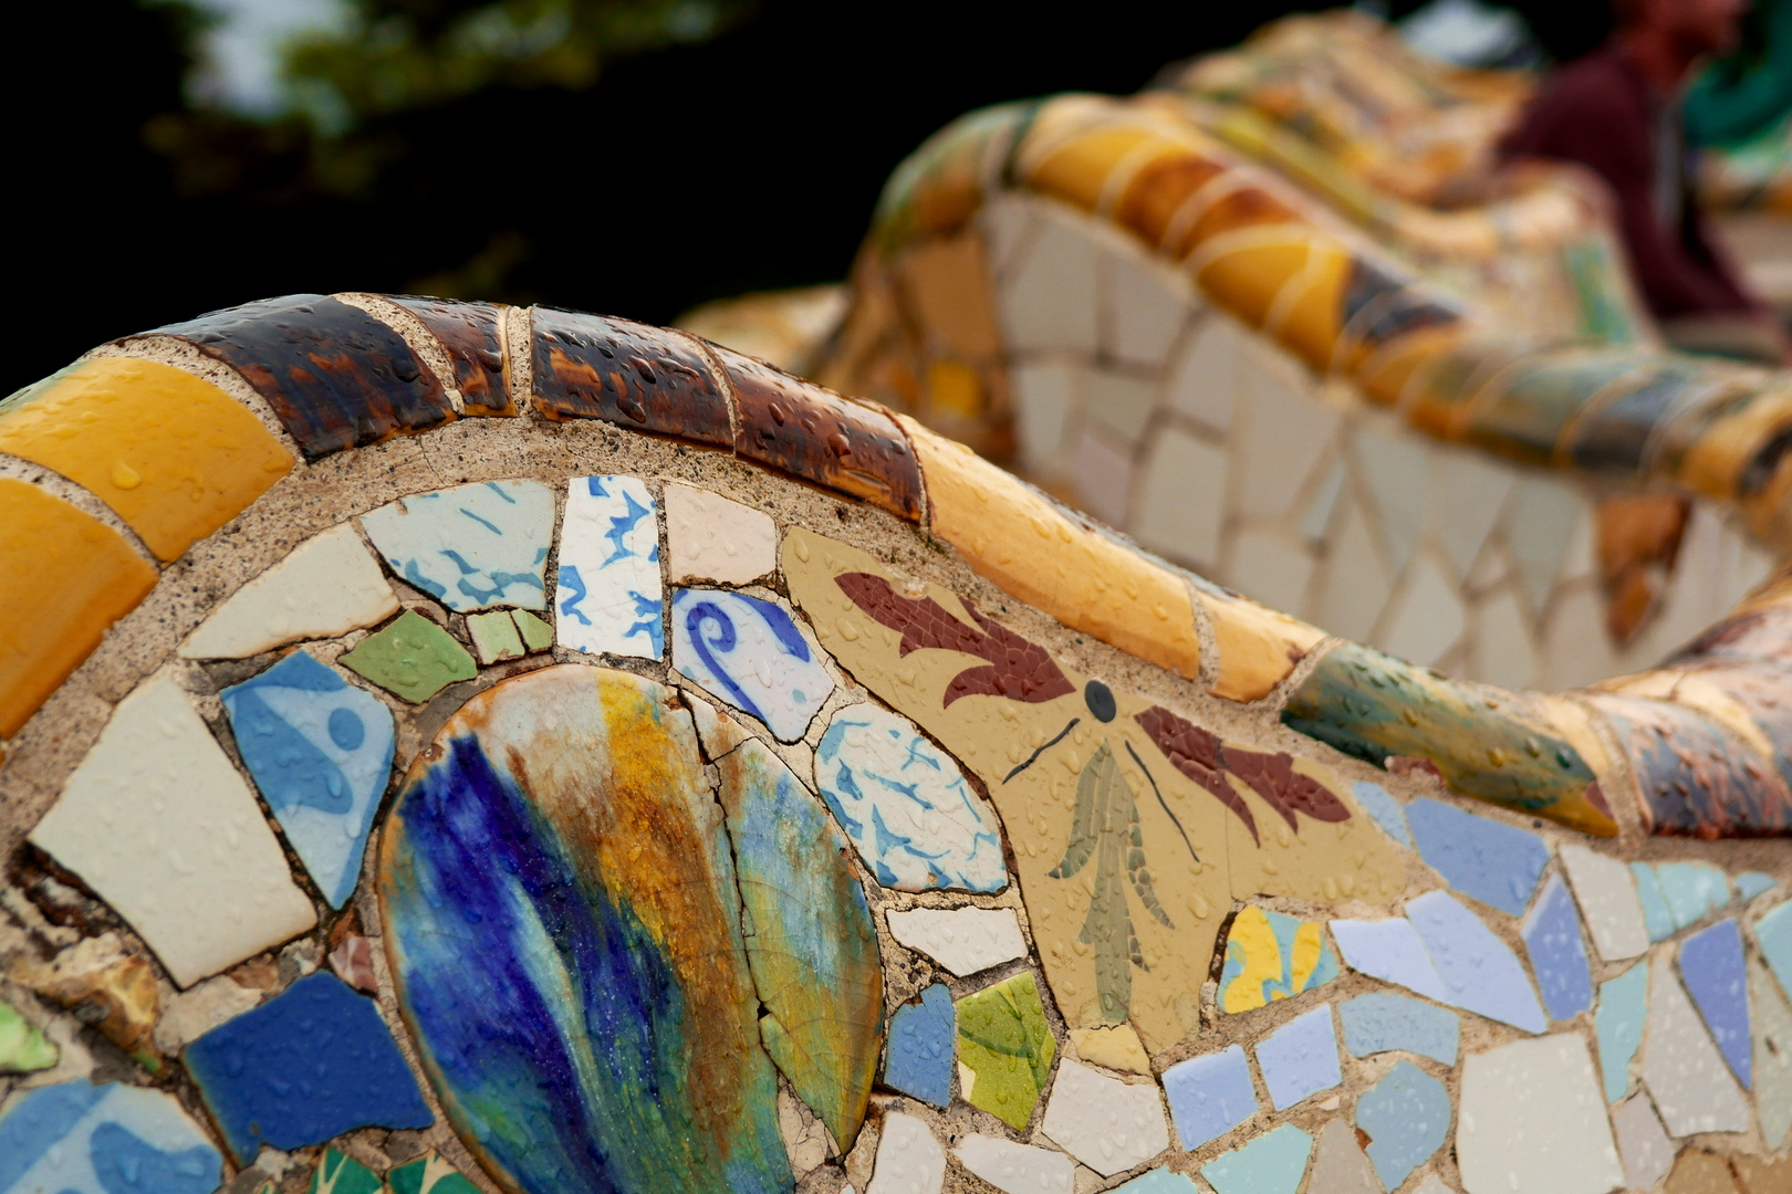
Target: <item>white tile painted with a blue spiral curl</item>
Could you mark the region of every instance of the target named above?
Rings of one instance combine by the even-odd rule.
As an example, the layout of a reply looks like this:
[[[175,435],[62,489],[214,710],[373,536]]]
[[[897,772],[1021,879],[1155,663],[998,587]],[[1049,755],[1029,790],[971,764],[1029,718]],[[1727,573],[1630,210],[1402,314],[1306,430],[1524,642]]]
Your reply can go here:
[[[672,666],[787,743],[803,738],[833,691],[783,605],[726,589],[672,591]]]

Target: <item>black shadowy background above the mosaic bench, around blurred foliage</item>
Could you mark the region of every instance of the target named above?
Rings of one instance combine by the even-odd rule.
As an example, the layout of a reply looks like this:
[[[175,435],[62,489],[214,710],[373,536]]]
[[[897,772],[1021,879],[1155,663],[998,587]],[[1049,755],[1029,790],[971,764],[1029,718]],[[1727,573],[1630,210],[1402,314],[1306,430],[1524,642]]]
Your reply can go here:
[[[111,337],[299,290],[667,322],[839,279],[891,168],[952,118],[1133,91],[1299,7],[758,0],[701,45],[607,61],[586,88],[498,82],[362,122],[375,165],[344,184],[319,181],[335,150],[301,122],[185,109],[190,11],[18,5],[0,396]],[[1598,0],[1516,7],[1557,57],[1606,30]]]

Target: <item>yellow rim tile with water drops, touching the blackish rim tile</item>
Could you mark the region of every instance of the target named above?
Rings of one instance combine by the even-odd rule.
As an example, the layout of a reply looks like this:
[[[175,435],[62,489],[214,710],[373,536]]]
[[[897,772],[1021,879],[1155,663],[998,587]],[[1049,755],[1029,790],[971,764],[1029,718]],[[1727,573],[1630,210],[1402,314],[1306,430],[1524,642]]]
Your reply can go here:
[[[161,560],[237,517],[292,456],[224,390],[159,362],[82,362],[0,417],[0,451],[118,512]]]

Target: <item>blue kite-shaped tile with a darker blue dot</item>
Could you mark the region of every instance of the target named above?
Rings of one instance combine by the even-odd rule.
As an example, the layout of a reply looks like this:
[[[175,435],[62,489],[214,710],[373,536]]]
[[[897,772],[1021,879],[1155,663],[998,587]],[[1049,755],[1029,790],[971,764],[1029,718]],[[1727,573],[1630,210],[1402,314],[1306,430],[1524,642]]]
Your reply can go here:
[[[305,652],[224,689],[224,711],[287,841],[342,908],[392,773],[392,712]]]

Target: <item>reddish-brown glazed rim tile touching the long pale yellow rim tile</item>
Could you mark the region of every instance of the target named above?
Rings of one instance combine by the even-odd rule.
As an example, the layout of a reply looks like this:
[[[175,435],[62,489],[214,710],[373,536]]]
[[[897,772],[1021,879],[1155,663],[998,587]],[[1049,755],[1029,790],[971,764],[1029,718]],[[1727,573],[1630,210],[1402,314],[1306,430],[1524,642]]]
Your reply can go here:
[[[733,349],[711,349],[735,385],[737,453],[921,521],[921,467],[894,419]]]

